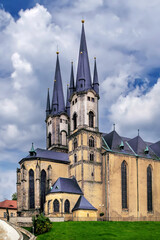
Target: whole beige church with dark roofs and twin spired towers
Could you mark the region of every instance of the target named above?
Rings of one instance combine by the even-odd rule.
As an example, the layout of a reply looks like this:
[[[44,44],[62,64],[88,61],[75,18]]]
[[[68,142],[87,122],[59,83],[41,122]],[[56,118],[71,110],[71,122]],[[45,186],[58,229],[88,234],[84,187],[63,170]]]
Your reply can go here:
[[[160,220],[160,141],[99,131],[99,80],[91,78],[84,20],[76,79],[71,64],[64,100],[59,52],[46,104],[46,149],[17,169],[17,214],[73,221]]]

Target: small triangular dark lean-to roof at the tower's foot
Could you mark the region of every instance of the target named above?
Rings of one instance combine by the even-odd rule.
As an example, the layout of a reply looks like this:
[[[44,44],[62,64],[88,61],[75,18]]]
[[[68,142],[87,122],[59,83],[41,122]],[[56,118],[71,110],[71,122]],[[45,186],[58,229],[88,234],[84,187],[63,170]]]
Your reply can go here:
[[[76,210],[94,210],[97,211],[95,207],[91,203],[88,202],[88,200],[84,196],[80,196],[78,201],[76,202],[74,208],[72,209],[73,211]]]

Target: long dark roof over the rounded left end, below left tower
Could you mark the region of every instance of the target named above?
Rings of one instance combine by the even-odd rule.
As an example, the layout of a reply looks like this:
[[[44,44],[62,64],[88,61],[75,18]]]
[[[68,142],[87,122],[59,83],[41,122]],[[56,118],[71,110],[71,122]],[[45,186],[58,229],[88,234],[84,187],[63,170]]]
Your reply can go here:
[[[20,163],[26,159],[47,159],[53,162],[60,163],[69,163],[69,158],[67,153],[62,152],[54,152],[52,150],[46,150],[37,148],[35,150],[35,155],[29,154],[27,157],[23,158]]]

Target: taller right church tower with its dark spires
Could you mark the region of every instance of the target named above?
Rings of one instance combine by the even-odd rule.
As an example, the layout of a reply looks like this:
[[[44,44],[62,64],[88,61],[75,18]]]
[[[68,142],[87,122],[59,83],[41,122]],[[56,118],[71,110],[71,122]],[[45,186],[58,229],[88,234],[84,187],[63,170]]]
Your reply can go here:
[[[102,185],[102,159],[98,126],[99,83],[96,59],[94,61],[92,84],[82,20],[76,87],[73,77],[70,82],[70,176],[76,177],[86,198],[98,207],[94,199]]]

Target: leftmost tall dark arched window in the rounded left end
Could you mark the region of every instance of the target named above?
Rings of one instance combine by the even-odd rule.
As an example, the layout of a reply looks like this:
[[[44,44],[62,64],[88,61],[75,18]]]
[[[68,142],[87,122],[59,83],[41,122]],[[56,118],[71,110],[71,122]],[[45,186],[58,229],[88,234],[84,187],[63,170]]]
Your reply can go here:
[[[29,170],[29,207],[34,208],[34,172]]]

